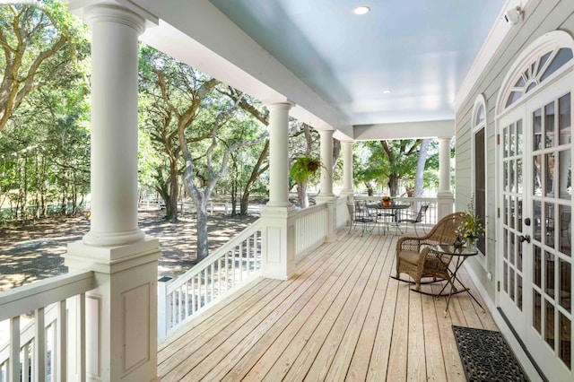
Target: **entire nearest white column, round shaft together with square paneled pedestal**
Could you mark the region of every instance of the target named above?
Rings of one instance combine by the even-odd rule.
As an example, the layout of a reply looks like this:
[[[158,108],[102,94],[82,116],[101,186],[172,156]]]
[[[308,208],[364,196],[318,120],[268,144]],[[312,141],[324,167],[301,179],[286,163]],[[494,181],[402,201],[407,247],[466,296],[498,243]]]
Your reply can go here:
[[[86,294],[86,378],[157,380],[157,239],[137,223],[138,34],[145,19],[117,5],[76,3],[91,26],[91,229],[69,269],[95,273]]]

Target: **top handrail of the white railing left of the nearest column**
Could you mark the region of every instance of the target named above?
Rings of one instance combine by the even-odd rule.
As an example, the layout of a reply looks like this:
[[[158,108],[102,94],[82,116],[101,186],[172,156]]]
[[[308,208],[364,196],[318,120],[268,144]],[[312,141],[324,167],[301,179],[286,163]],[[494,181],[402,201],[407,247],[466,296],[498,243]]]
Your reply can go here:
[[[77,271],[0,292],[0,321],[95,288],[92,271]]]

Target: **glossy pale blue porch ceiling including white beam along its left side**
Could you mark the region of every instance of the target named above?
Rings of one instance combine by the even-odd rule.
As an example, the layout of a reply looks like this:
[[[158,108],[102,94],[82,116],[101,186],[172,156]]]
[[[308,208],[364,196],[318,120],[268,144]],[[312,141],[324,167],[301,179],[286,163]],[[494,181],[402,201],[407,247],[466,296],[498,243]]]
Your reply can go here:
[[[400,123],[452,121],[457,91],[509,2],[131,1],[160,19],[144,42],[259,100],[291,100],[294,117],[339,139],[359,125],[388,135]],[[356,5],[370,13],[353,14]]]

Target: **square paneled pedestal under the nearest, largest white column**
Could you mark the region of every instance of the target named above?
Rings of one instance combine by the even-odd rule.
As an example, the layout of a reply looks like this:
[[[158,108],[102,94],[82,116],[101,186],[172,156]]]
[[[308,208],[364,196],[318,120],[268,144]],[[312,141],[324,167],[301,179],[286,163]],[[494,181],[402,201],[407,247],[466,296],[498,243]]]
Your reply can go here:
[[[157,374],[158,239],[128,246],[68,245],[65,265],[95,273],[86,293],[86,377],[152,381]]]

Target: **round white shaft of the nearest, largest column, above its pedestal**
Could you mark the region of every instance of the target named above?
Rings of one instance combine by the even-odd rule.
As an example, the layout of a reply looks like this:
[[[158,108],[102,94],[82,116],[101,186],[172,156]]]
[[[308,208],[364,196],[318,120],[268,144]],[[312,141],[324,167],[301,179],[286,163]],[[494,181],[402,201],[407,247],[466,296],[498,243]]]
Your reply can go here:
[[[91,246],[143,239],[137,224],[137,65],[143,19],[108,6],[91,24]]]

